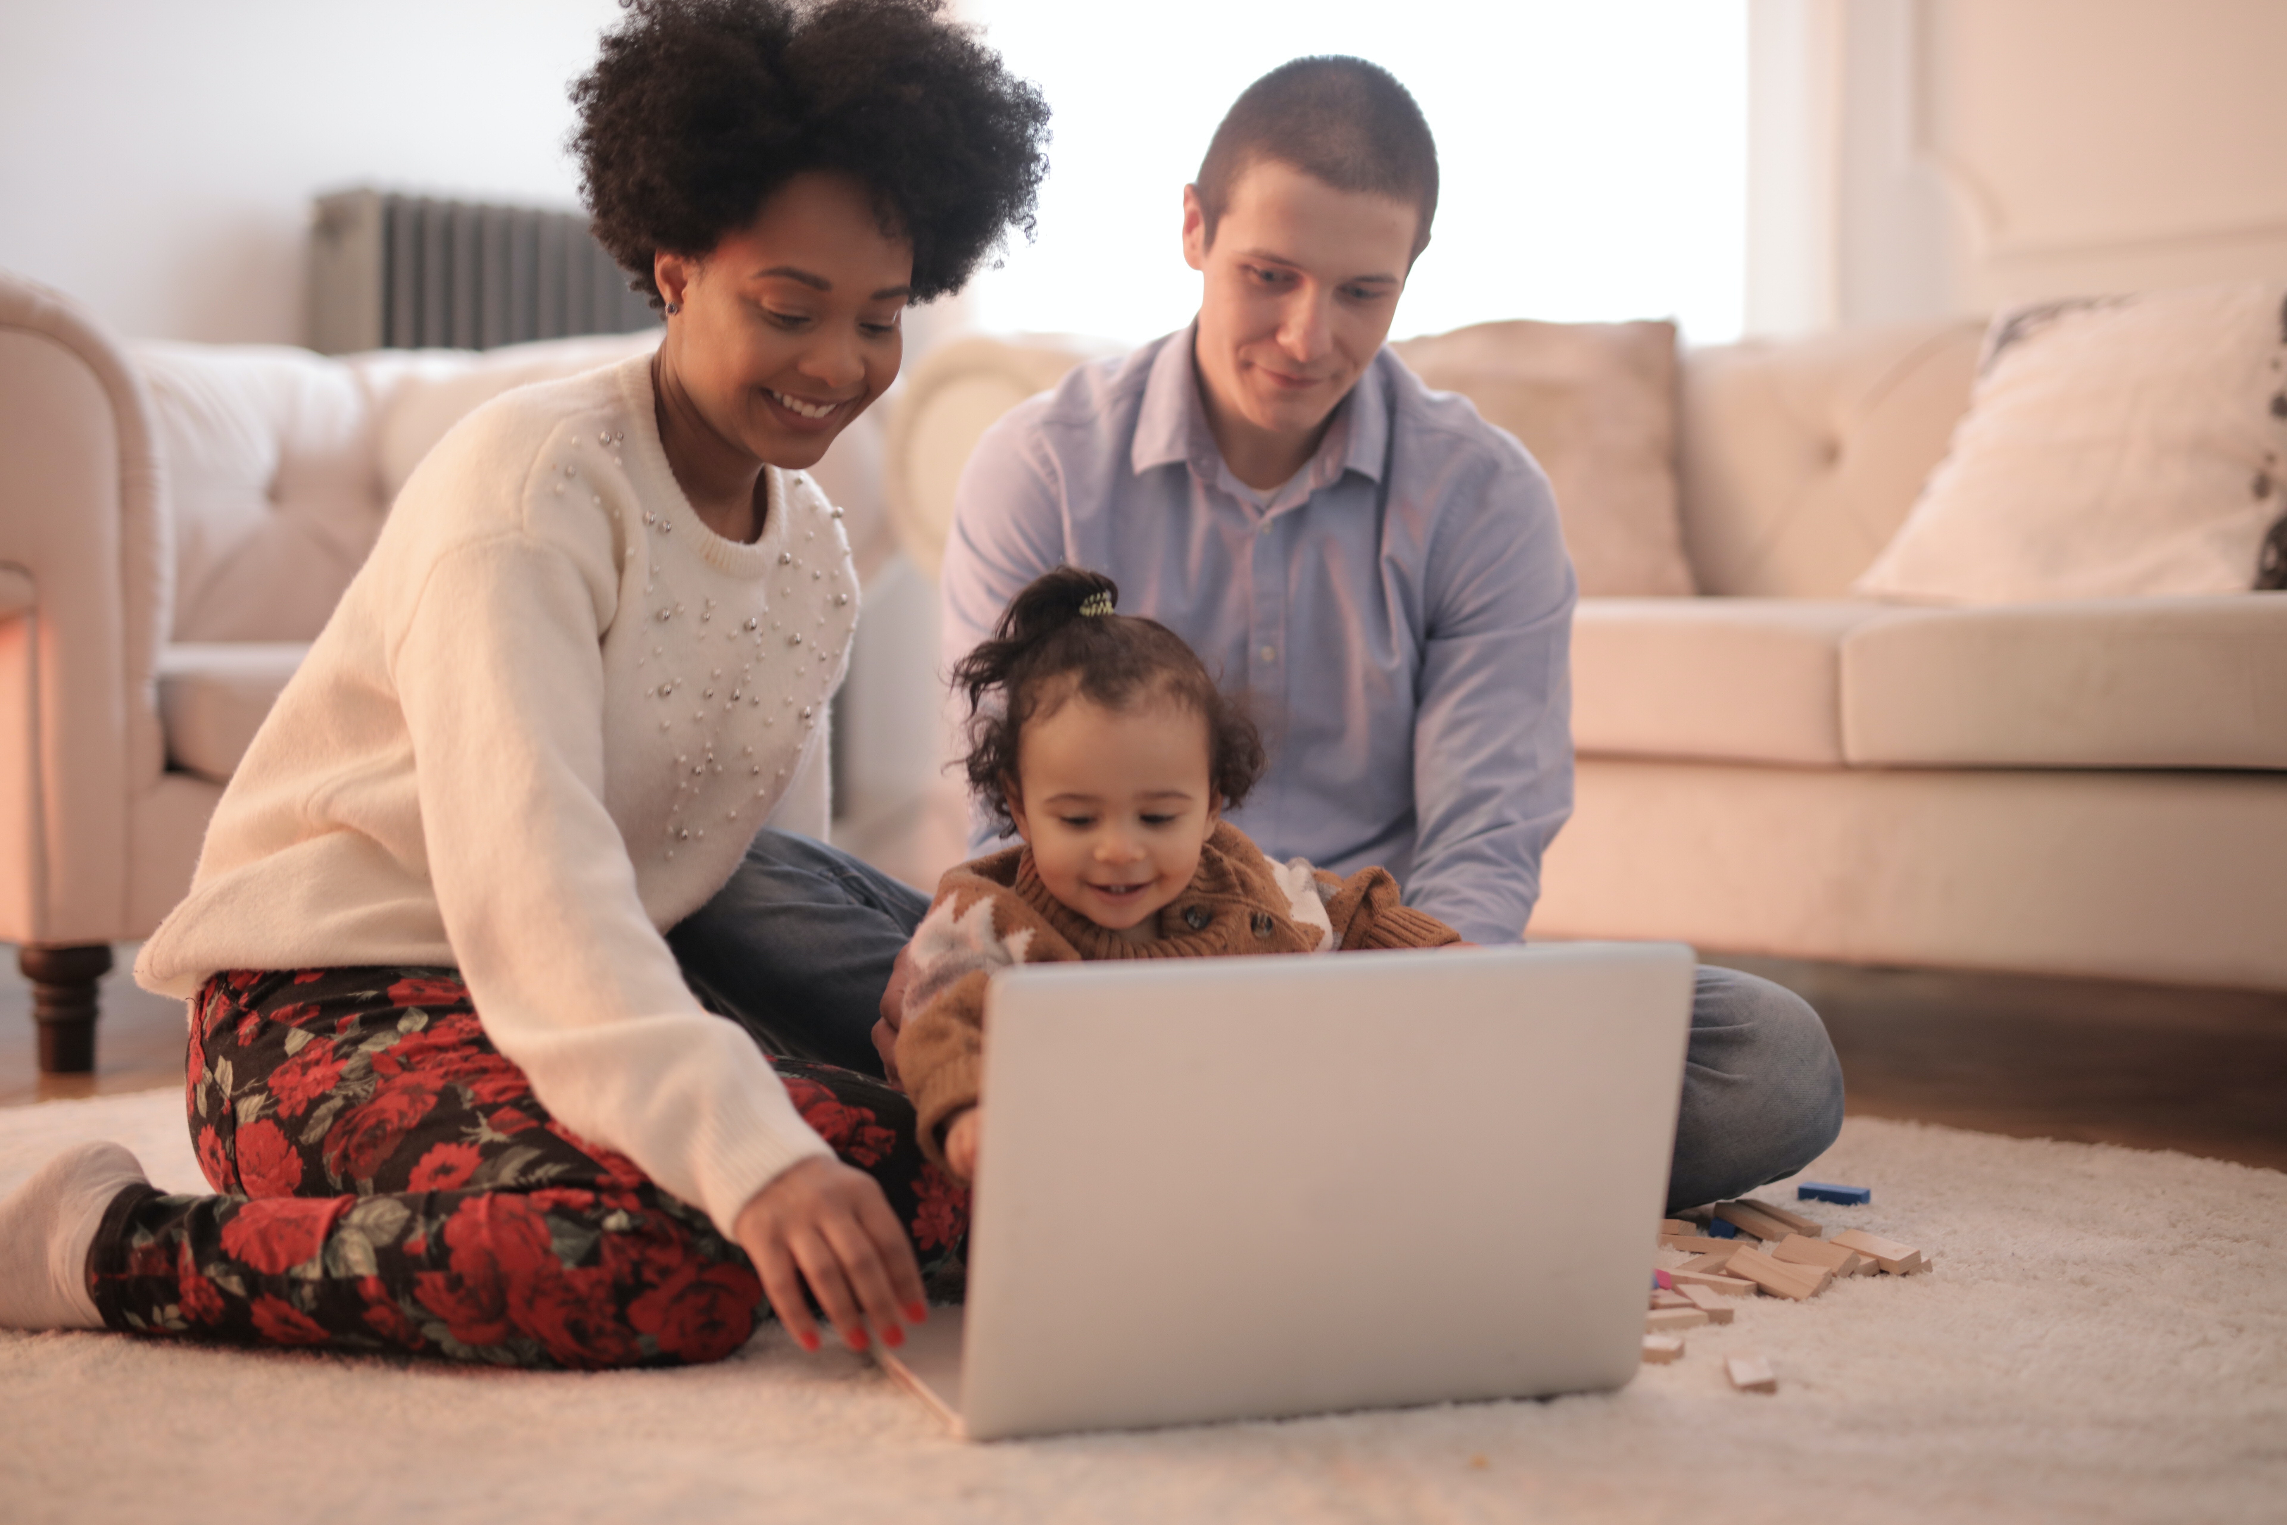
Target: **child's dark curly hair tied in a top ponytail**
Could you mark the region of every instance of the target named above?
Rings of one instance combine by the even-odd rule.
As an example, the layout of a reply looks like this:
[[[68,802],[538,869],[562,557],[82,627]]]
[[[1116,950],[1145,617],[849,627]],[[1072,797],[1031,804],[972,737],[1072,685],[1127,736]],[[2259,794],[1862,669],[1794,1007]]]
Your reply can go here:
[[[1246,706],[1214,686],[1198,652],[1157,620],[1111,613],[1121,588],[1102,572],[1057,567],[1034,578],[974,652],[954,665],[970,700],[970,789],[999,828],[1013,830],[1009,784],[1029,720],[1082,695],[1105,709],[1173,700],[1208,722],[1208,784],[1235,809],[1262,777],[1262,734]],[[1070,684],[1057,679],[1070,677]],[[999,704],[986,704],[999,695]]]

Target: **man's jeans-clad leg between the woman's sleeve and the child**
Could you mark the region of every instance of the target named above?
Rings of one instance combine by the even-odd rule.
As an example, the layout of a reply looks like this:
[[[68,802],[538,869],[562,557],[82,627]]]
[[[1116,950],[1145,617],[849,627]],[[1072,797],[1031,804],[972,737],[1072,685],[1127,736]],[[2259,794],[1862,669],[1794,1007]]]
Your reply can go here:
[[[668,933],[684,979],[766,1054],[880,1075],[874,1020],[929,896],[794,832],[764,830],[723,889]]]

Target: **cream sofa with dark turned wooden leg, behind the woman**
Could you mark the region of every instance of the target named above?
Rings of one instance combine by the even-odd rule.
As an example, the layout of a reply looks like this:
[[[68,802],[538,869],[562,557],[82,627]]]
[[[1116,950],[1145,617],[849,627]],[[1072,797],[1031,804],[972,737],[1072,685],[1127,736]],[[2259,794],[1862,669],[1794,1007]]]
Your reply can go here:
[[[508,386],[656,334],[329,359],[123,345],[0,272],[0,937],[41,1068],[94,1056],[110,944],[190,887],[222,784],[428,448]],[[819,469],[867,569],[878,423]]]

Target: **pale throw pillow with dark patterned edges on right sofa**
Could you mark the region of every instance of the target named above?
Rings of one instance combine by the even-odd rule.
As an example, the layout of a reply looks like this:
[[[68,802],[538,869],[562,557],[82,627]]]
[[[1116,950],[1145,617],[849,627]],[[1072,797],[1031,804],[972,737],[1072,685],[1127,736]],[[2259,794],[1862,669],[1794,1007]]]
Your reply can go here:
[[[1994,318],[1946,460],[1855,592],[2022,604],[2246,592],[2287,508],[2287,284]]]

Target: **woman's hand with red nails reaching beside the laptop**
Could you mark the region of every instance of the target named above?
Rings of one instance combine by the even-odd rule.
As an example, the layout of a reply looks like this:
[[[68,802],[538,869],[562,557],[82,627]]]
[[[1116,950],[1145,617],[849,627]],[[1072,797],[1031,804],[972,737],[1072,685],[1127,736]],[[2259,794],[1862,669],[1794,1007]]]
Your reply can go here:
[[[805,1280],[853,1351],[869,1344],[867,1324],[894,1349],[906,1342],[903,1324],[929,1317],[922,1267],[890,1198],[871,1175],[839,1159],[805,1159],[757,1191],[739,1209],[736,1237],[778,1322],[805,1351],[819,1349]]]

